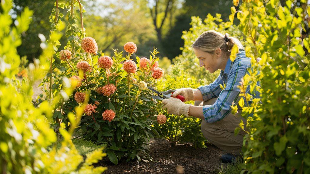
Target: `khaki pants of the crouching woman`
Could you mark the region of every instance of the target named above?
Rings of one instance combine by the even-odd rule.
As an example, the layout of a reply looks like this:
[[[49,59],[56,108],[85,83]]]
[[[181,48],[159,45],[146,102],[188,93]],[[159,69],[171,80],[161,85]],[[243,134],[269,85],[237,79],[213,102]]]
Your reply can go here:
[[[213,98],[205,102],[195,101],[195,105],[203,106],[214,104],[216,99],[217,98]],[[202,134],[210,143],[214,144],[226,153],[240,154],[243,143],[243,135],[245,135],[246,132],[240,130],[235,136],[234,131],[235,128],[239,126],[240,120],[243,120],[243,123],[246,125],[246,119],[240,116],[241,111],[242,110],[238,110],[238,113],[235,115],[230,113],[224,119],[215,123],[207,123],[202,120]]]

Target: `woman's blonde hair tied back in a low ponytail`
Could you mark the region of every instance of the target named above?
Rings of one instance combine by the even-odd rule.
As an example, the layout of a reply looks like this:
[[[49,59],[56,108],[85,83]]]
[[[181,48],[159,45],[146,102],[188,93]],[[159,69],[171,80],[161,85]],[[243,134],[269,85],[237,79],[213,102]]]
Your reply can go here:
[[[235,44],[238,46],[238,49],[244,49],[236,37],[229,37],[227,33],[223,35],[217,31],[209,30],[198,36],[192,47],[211,54],[219,48],[226,55],[229,55]]]

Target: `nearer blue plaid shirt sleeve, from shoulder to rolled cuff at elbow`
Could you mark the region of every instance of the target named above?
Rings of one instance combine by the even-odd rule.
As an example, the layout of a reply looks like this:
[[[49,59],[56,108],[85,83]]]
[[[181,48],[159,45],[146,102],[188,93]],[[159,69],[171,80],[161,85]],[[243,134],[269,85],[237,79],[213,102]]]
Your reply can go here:
[[[235,61],[228,74],[226,87],[221,90],[218,99],[212,105],[203,106],[202,110],[206,122],[213,123],[225,118],[232,110],[232,102],[238,103],[241,98],[239,97],[240,89],[238,86],[247,73],[247,68],[250,67],[250,60],[241,61],[236,59]]]

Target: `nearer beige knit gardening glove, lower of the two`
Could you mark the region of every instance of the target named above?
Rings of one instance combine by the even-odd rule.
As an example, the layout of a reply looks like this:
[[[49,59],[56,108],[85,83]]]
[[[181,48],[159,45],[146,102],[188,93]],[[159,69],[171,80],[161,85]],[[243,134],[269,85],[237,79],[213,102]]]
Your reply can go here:
[[[192,104],[185,104],[181,100],[176,98],[170,98],[162,100],[164,106],[163,109],[167,109],[169,114],[173,115],[185,115],[188,117],[188,111]]]

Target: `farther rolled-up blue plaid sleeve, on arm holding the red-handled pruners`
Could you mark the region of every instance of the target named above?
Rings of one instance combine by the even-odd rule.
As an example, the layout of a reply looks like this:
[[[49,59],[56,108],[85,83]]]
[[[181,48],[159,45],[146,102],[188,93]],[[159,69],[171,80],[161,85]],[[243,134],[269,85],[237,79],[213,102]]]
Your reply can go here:
[[[214,82],[210,83],[206,86],[198,87],[201,91],[203,101],[210,100],[215,97],[219,97],[220,92],[222,91],[219,84],[222,84],[223,80],[221,79],[221,74],[214,80]]]

